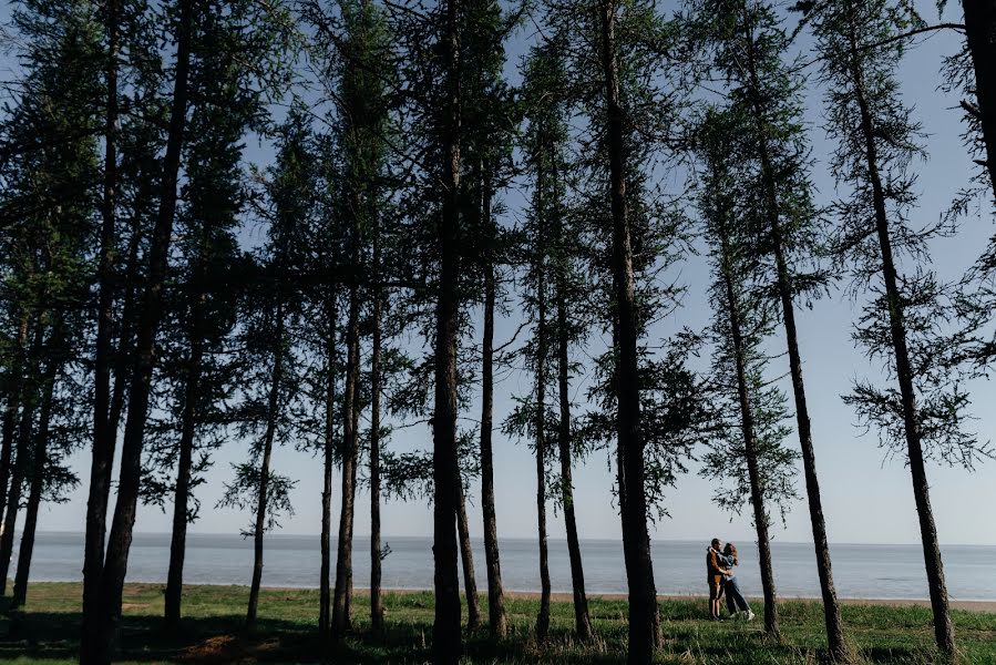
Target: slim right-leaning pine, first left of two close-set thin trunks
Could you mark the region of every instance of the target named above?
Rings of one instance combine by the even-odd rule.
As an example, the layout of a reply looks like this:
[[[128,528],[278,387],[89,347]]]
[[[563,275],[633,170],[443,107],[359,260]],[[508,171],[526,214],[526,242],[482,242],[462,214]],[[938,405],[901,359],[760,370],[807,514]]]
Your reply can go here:
[[[306,111],[294,106],[280,126],[277,160],[265,185],[269,208],[267,244],[259,263],[268,278],[246,294],[239,346],[247,360],[239,433],[251,440],[250,459],[235,466],[235,480],[226,485],[219,505],[249,509],[254,541],[253,579],[246,627],[255,630],[263,581],[264,535],[292,514],[289,492],[294,479],[273,469],[273,452],[292,436],[292,402],[299,398],[299,358],[292,330],[301,316],[301,294],[294,280],[308,252],[309,214],[317,200],[318,168]]]

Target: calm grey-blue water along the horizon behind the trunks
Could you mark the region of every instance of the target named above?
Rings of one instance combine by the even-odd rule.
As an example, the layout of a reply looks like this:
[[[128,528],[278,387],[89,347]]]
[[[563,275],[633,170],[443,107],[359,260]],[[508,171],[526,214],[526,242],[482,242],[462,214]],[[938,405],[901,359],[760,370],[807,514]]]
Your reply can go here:
[[[425,538],[387,538],[391,553],[383,563],[387,589],[431,589],[432,549]],[[358,586],[369,577],[370,541],[356,539],[355,579]],[[478,587],[485,589],[483,543],[475,540]],[[565,541],[550,543],[553,590],[571,591],[571,564]],[[335,544],[332,553],[335,556]],[[705,544],[682,541],[654,542],[657,590],[661,594],[705,592]],[[540,587],[538,550],[534,541],[501,541],[502,580],[505,589],[534,591]],[[132,582],[164,582],[170,555],[167,534],[136,534],[132,544],[127,579]],[[760,595],[756,549],[740,546],[740,584],[750,595]],[[833,545],[833,574],[843,597],[926,598],[923,554],[917,545]],[[622,543],[582,542],[585,582],[591,593],[626,591]],[[947,546],[944,570],[952,598],[996,601],[996,548]],[[779,594],[818,596],[815,556],[812,545],[773,544],[774,574]],[[17,555],[14,555],[17,561]],[[82,533],[40,533],[31,565],[31,580],[68,582],[81,579]],[[238,535],[191,534],[187,536],[185,582],[191,584],[248,584],[253,542]],[[266,542],[263,583],[268,586],[318,586],[318,536],[271,535]]]

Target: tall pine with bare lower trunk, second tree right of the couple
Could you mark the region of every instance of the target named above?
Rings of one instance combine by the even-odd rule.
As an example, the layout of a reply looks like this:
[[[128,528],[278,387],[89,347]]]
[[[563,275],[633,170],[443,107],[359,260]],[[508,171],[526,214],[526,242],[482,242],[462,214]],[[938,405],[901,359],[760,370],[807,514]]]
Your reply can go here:
[[[830,549],[815,468],[812,428],[802,377],[795,327],[800,298],[820,295],[826,278],[807,269],[820,241],[819,215],[811,202],[809,145],[802,123],[803,81],[799,68],[787,61],[791,35],[778,8],[757,0],[707,0],[696,7],[698,25],[712,43],[715,66],[730,86],[731,103],[749,122],[736,127],[745,160],[752,163],[746,177],[751,187],[745,202],[763,202],[758,211],[758,252],[767,254],[769,293],[781,309],[802,450],[810,522],[817,552],[820,589],[830,656],[848,658],[840,604],[833,585]],[[773,610],[766,605],[766,626],[777,632]]]

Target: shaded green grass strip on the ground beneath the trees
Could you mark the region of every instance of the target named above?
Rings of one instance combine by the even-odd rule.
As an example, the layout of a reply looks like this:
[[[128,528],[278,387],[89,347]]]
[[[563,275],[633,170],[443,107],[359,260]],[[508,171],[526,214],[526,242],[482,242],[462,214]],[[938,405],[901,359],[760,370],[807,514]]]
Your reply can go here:
[[[74,663],[80,622],[79,584],[34,584],[20,615],[0,620],[0,661],[10,663]],[[425,663],[432,634],[432,594],[389,594],[388,632],[367,635],[368,602],[355,603],[355,636],[322,655],[315,636],[318,592],[265,590],[259,628],[243,634],[248,591],[239,586],[192,586],[184,598],[181,633],[162,630],[163,587],[132,584],[125,590],[120,659],[126,663]],[[482,603],[486,611],[486,605]],[[506,641],[487,640],[486,628],[468,636],[468,663],[591,663],[624,662],[626,603],[592,600],[597,638],[572,638],[569,602],[555,602],[552,636],[544,645],[532,637],[537,602],[509,602],[512,633]],[[811,602],[780,605],[782,635],[766,638],[760,616],[751,623],[704,618],[705,601],[661,601],[666,642],[659,663],[751,665],[819,663],[824,647],[822,611]],[[760,607],[756,606],[760,614]],[[931,648],[931,612],[924,607],[846,605],[850,638],[862,663],[939,663]],[[955,612],[959,662],[996,664],[996,614]]]

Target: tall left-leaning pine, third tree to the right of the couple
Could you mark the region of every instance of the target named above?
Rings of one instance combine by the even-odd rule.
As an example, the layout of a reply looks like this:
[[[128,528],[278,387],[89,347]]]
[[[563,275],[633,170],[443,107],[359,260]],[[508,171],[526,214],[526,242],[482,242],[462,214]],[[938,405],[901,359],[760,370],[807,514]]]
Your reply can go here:
[[[935,640],[942,652],[953,654],[926,461],[936,457],[971,467],[979,447],[963,429],[968,397],[949,370],[957,346],[945,323],[953,307],[946,287],[925,268],[926,243],[943,229],[914,228],[908,221],[916,201],[911,168],[923,151],[920,125],[900,99],[895,79],[900,47],[890,38],[904,27],[897,24],[902,12],[886,0],[809,9],[828,88],[828,131],[840,141],[831,165],[838,182],[853,183],[850,198],[835,206],[835,247],[853,288],[869,298],[854,339],[871,357],[886,360],[895,381],[893,388],[859,381],[845,401],[908,463]],[[903,257],[912,266],[905,274],[897,264]]]

